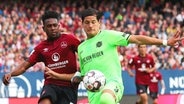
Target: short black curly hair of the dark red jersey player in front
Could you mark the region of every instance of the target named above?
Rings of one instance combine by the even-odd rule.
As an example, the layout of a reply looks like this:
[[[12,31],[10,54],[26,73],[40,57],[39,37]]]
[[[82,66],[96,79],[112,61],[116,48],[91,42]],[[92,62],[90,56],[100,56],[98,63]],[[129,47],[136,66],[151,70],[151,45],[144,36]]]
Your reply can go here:
[[[57,12],[54,11],[46,11],[43,15],[42,15],[42,22],[44,23],[46,19],[49,18],[56,18],[57,20],[60,19],[60,15]]]

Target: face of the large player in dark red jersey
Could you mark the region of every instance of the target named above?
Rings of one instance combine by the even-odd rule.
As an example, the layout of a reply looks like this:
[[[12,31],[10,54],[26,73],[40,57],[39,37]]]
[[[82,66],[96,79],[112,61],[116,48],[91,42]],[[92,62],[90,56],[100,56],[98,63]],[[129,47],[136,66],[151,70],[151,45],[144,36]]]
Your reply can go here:
[[[59,37],[59,25],[56,18],[49,18],[44,21],[43,30],[46,32],[48,39]]]

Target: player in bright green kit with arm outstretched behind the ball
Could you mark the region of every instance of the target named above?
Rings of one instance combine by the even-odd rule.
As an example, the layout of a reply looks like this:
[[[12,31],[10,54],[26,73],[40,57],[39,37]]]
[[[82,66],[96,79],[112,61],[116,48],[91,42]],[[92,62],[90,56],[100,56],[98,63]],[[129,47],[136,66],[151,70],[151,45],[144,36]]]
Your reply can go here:
[[[90,104],[116,104],[124,92],[117,46],[127,46],[130,43],[175,46],[184,37],[180,38],[181,33],[177,32],[169,40],[160,40],[114,30],[101,30],[102,15],[93,8],[86,9],[81,14],[87,39],[78,47],[80,71],[81,76],[84,76],[89,70],[96,69],[103,72],[106,77],[106,85],[101,91],[88,91]]]

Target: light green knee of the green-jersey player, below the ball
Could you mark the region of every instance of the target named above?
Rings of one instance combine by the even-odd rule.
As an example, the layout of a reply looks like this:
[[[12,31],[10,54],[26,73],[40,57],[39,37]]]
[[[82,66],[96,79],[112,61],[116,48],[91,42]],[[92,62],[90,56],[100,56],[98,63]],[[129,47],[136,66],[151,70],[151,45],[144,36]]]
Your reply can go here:
[[[110,93],[103,93],[100,97],[100,104],[116,104],[116,102]]]

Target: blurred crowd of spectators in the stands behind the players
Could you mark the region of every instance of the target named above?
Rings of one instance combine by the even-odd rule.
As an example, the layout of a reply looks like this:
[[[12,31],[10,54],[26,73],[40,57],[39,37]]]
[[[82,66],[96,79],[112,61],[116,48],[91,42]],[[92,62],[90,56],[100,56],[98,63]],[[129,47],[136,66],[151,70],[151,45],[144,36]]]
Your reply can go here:
[[[40,16],[46,10],[61,14],[64,32],[86,38],[81,28],[80,13],[93,7],[104,13],[102,29],[168,39],[177,30],[184,31],[183,0],[0,0],[0,72],[9,72],[26,60],[34,46],[46,39]],[[182,32],[184,36],[184,32]],[[119,47],[122,70],[137,46]],[[148,46],[159,70],[184,69],[184,41],[179,47]],[[38,63],[28,71],[42,71]]]

